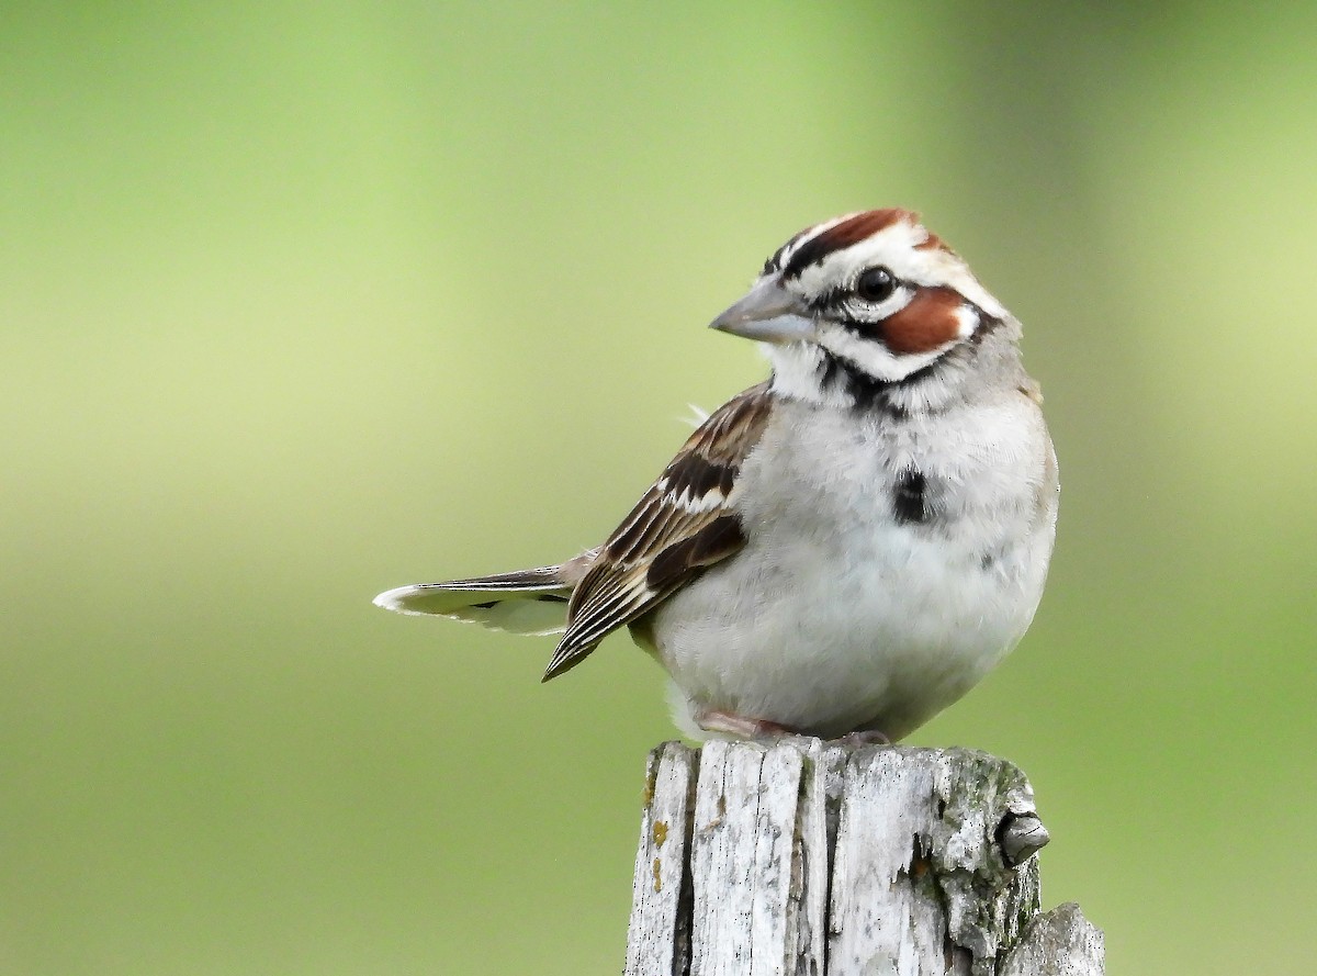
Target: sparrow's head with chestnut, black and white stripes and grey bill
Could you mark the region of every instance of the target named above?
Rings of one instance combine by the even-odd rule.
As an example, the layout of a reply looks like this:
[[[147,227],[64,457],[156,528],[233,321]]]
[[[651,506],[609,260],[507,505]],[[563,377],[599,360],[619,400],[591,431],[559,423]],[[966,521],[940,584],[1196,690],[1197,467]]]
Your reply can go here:
[[[712,328],[769,345],[788,396],[894,410],[936,406],[1019,325],[910,211],[849,213],[778,248]]]

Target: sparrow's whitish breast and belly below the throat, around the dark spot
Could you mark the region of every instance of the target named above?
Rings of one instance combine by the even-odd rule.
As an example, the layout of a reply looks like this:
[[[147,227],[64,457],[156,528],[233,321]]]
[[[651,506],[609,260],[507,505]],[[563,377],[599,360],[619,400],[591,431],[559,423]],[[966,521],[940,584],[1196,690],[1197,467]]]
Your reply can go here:
[[[902,524],[893,489],[911,466],[932,512]],[[785,402],[731,501],[745,549],[652,620],[684,709],[898,739],[1029,627],[1056,466],[1036,404],[1015,391],[903,423]]]

